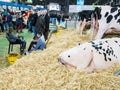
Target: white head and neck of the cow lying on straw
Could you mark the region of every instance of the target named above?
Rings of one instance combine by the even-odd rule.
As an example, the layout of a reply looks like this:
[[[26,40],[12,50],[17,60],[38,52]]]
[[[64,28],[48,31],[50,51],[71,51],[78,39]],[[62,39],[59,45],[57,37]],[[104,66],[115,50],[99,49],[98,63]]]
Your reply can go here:
[[[58,56],[58,61],[65,65],[68,69],[84,69],[89,62],[85,60],[86,53],[88,50],[84,47],[84,45],[75,46],[67,51],[62,52]],[[90,54],[87,54],[90,55]],[[72,68],[71,68],[72,67]]]

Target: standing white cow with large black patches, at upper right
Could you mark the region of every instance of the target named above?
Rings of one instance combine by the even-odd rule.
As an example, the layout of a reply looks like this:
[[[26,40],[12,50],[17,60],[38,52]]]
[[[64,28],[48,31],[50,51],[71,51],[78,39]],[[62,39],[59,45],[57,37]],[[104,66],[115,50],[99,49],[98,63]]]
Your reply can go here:
[[[95,27],[93,30],[93,39],[101,39],[112,28],[120,31],[120,7],[96,7],[94,16],[95,22],[93,22],[94,26],[92,26]]]

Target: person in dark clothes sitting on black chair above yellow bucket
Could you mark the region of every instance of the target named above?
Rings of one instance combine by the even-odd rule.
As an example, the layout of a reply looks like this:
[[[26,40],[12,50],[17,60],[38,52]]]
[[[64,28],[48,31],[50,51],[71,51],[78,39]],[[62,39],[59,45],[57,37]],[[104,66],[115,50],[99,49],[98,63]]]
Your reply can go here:
[[[24,53],[24,50],[26,48],[26,41],[22,38],[20,38],[20,36],[16,36],[13,33],[13,28],[10,27],[9,31],[7,33],[10,41],[14,42],[14,44],[21,44],[20,46],[20,54],[22,55]]]

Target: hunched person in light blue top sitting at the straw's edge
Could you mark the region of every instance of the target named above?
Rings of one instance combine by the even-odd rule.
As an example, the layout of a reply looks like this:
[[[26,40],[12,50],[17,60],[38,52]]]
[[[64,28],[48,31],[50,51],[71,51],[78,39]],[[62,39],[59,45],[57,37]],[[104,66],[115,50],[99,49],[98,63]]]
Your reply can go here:
[[[28,52],[26,52],[25,54],[35,50],[43,50],[45,49],[45,46],[46,45],[44,36],[41,33],[37,33],[37,35],[33,37],[33,41],[31,41],[29,45]]]

